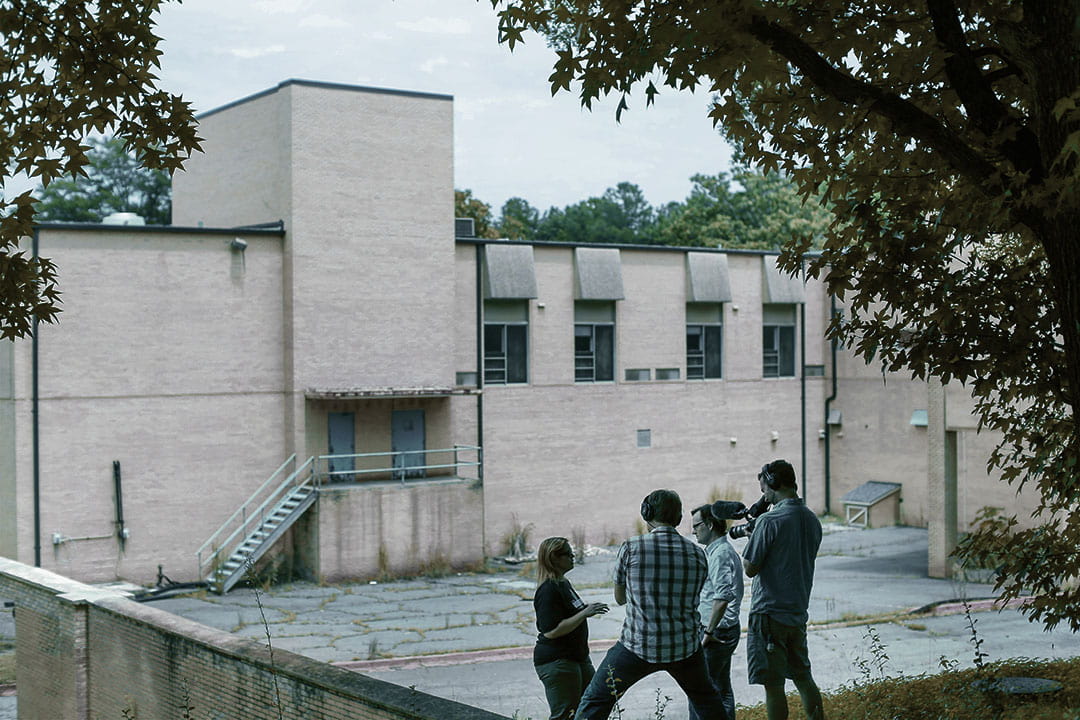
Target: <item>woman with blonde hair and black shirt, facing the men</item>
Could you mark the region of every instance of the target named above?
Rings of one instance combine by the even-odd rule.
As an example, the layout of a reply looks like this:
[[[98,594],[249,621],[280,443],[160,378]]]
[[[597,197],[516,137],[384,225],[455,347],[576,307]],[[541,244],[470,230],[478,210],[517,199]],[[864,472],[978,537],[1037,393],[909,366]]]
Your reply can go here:
[[[548,538],[537,551],[537,646],[532,664],[543,683],[551,720],[568,720],[593,678],[586,617],[607,612],[603,602],[585,604],[565,575],[573,569],[566,538]]]

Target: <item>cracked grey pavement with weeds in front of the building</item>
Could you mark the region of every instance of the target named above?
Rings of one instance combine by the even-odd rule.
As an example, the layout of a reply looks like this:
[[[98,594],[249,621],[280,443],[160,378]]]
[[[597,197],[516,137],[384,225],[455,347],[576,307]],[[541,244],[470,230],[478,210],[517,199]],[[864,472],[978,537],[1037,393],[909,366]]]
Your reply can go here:
[[[741,549],[744,541],[737,541]],[[619,637],[623,611],[611,598],[613,548],[591,548],[569,574],[586,601],[611,603],[590,620],[593,661]],[[858,530],[826,525],[810,606],[810,652],[823,689],[859,677],[855,662],[869,656],[873,625],[888,649],[892,674],[937,671],[945,656],[970,665],[971,633],[963,604],[991,660],[1067,657],[1080,653],[1076,636],[1043,633],[1016,611],[989,609],[993,586],[974,580],[927,576],[927,531],[919,528]],[[320,586],[291,583],[266,592],[234,589],[224,597],[195,595],[153,601],[153,607],[266,641],[275,648],[339,664],[373,677],[471,703],[502,715],[546,717],[532,670],[536,637],[534,581],[519,566],[483,573],[416,578],[387,583]],[[744,626],[748,607],[743,604]],[[261,603],[261,611],[259,604]],[[934,608],[945,614],[934,614]],[[923,613],[914,615],[916,609]],[[264,625],[264,616],[266,624]],[[0,615],[0,635],[3,633]],[[761,702],[760,688],[745,682],[745,654],[735,652],[732,678],[741,704]],[[657,692],[671,696],[669,717],[680,716],[685,697],[666,675],[651,676],[625,696],[625,717],[652,717]],[[0,698],[0,720],[14,718],[14,698]]]

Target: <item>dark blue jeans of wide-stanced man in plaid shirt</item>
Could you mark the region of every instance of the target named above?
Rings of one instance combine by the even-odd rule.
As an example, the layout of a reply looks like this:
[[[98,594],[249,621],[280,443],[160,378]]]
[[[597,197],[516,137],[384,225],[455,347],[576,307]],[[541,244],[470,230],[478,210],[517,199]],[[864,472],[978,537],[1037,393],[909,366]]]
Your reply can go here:
[[[705,656],[699,649],[674,663],[649,663],[616,642],[604,657],[578,705],[576,720],[607,720],[618,696],[647,675],[664,670],[686,693],[690,707],[702,720],[727,720],[720,694],[705,670]]]

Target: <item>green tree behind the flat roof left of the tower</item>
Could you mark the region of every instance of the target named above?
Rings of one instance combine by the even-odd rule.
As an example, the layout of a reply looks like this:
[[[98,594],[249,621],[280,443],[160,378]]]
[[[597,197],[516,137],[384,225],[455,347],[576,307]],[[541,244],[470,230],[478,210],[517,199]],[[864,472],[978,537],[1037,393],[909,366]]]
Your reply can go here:
[[[150,225],[168,225],[168,173],[149,169],[116,138],[90,140],[89,168],[81,178],[64,177],[40,190],[38,220],[100,222],[112,213],[135,213]]]

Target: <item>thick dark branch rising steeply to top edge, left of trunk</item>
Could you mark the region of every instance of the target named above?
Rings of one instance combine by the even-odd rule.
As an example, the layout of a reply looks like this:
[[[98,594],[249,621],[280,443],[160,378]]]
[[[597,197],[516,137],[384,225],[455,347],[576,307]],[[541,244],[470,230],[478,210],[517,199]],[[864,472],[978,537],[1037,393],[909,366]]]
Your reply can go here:
[[[934,36],[945,50],[945,74],[968,111],[971,122],[987,136],[1007,128],[1008,139],[999,149],[1013,166],[1039,182],[1045,177],[1039,152],[1039,140],[1030,130],[1010,114],[998,99],[994,87],[976,62],[976,55],[964,39],[960,16],[951,0],[927,0],[927,11]]]

